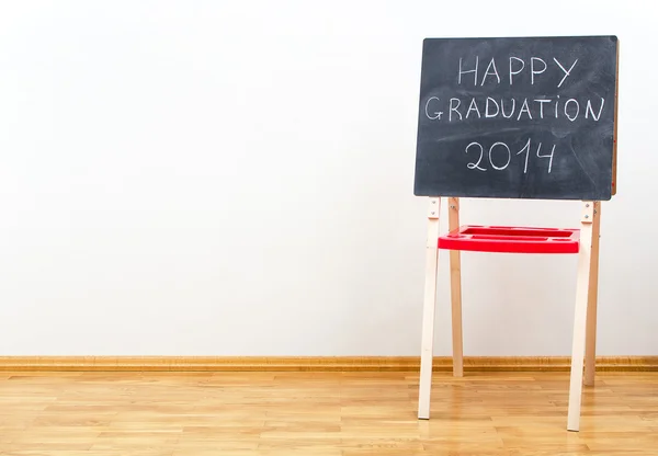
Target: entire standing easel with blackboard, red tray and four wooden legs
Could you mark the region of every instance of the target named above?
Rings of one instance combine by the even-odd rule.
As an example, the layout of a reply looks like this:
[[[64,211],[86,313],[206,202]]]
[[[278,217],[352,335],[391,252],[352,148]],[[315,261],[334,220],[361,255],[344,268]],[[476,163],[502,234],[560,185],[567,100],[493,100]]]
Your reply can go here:
[[[477,45],[484,41],[488,41],[488,48],[495,50],[490,53],[479,50]],[[613,112],[610,109],[603,111],[603,104],[601,104],[599,117],[594,119],[593,114],[591,117],[588,114],[586,119],[589,123],[586,124],[560,123],[557,104],[551,115],[540,114],[540,119],[543,119],[542,122],[546,125],[555,121],[556,130],[568,132],[578,138],[575,139],[578,142],[578,150],[571,150],[571,155],[563,155],[560,168],[548,168],[548,172],[553,172],[551,179],[547,178],[545,163],[535,162],[529,167],[531,139],[527,139],[527,149],[519,146],[514,146],[513,149],[513,157],[524,158],[525,161],[521,164],[519,162],[510,164],[512,163],[510,145],[518,145],[520,137],[531,138],[536,135],[538,138],[546,138],[548,128],[540,126],[543,125],[542,123],[520,123],[521,114],[519,114],[514,118],[517,123],[513,124],[513,128],[507,129],[503,128],[506,124],[502,123],[502,119],[500,119],[501,123],[481,122],[477,106],[474,107],[476,98],[481,96],[481,90],[485,87],[489,88],[487,94],[492,96],[487,101],[494,100],[495,102],[495,98],[500,96],[502,103],[504,96],[509,96],[508,90],[513,87],[512,76],[517,78],[517,75],[522,71],[521,66],[512,71],[512,61],[519,62],[523,59],[534,61],[533,59],[536,59],[538,55],[537,49],[544,42],[548,43],[546,49],[549,50],[546,50],[546,54],[554,57],[555,62],[559,66],[557,71],[561,71],[561,73],[541,90],[538,89],[540,76],[537,79],[534,78],[535,75],[543,75],[545,69],[541,73],[534,71],[530,82],[527,78],[515,80],[517,86],[514,87],[521,84],[525,90],[534,88],[541,94],[552,93],[548,98],[559,98],[556,87],[563,91],[566,90],[569,87],[569,82],[565,82],[568,81],[567,77],[585,78],[586,75],[597,75],[595,83],[599,89],[595,94],[600,94],[601,88],[604,87],[609,100],[606,106],[610,106],[610,101],[614,101]],[[568,50],[559,58],[555,58],[556,49],[565,44],[567,47],[563,49],[568,48],[569,43],[574,44],[574,48],[581,49],[578,55],[578,65],[581,68],[589,67],[591,72],[575,70],[577,67],[572,60],[574,55]],[[527,47],[533,48],[532,55],[523,55],[526,44],[532,45]],[[588,47],[590,49],[587,53],[582,50]],[[476,48],[477,53],[474,50]],[[478,72],[480,67],[477,66],[477,61],[479,60],[474,60],[474,54],[481,57],[481,61],[485,62],[483,65],[487,65],[486,71]],[[494,68],[496,58],[500,61],[501,56],[508,55],[513,56],[509,59],[510,73],[507,79],[509,86],[506,86],[501,84],[501,81],[504,81],[508,75],[500,77],[498,70],[494,70]],[[569,69],[560,64],[560,60],[566,59],[572,62],[569,64]],[[619,41],[615,36],[558,37],[555,39],[551,37],[477,38],[475,41],[470,38],[428,38],[423,44],[422,68],[415,194],[428,196],[429,208],[418,418],[426,420],[430,418],[439,250],[450,250],[452,358],[455,377],[464,375],[461,251],[578,254],[567,430],[579,431],[582,386],[593,385],[595,376],[601,201],[610,200],[617,190]],[[469,79],[473,75],[475,78]],[[487,79],[488,77],[496,77],[496,79]],[[462,78],[466,82],[463,83]],[[475,90],[466,96],[464,91],[469,87],[474,87]],[[501,91],[497,91],[499,89]],[[581,84],[579,90],[582,91],[579,93],[582,93],[583,96],[593,96],[587,92],[587,84]],[[566,99],[565,92],[560,93]],[[452,98],[457,96],[456,94],[462,96],[465,102],[470,99],[468,113],[472,113],[473,110],[477,114],[473,117],[466,115],[462,118],[456,110],[456,104],[453,105],[453,100],[460,101],[458,98]],[[612,94],[614,94],[614,100]],[[569,96],[575,96],[574,92]],[[443,104],[441,104],[442,100]],[[445,100],[450,100],[450,103],[446,103]],[[568,103],[576,104],[578,101],[568,99],[563,103],[565,103],[561,105],[564,107]],[[588,106],[590,105],[588,104]],[[458,117],[457,114],[460,114]],[[445,115],[449,116],[447,121]],[[453,115],[454,118],[451,117]],[[485,121],[487,118],[498,121],[497,115],[497,113],[488,114],[486,111]],[[569,117],[569,121],[576,121],[574,113],[571,112],[569,116],[566,109],[565,115]],[[510,117],[504,116],[504,118]],[[536,121],[537,117],[534,119]],[[477,127],[470,128],[472,124]],[[605,128],[602,128],[603,125]],[[574,129],[569,130],[571,126]],[[611,129],[613,129],[612,138],[609,134]],[[518,132],[523,132],[523,135]],[[546,148],[551,147],[548,144],[553,144],[553,150],[555,150],[556,145],[559,144],[559,135],[554,135],[549,139],[535,139],[535,141],[537,140],[540,142],[545,140],[546,145],[541,155],[542,145],[535,144],[535,149],[532,150],[536,151],[533,152],[536,156],[533,157],[537,160],[546,159],[548,157]],[[563,144],[559,149],[569,150],[574,144]],[[473,149],[470,149],[472,146],[474,146]],[[499,147],[496,149],[499,155],[494,160],[492,153],[496,146]],[[508,153],[507,161],[506,151]],[[521,155],[524,151],[526,155]],[[585,162],[590,163],[590,172],[586,170]],[[553,151],[549,163],[553,163]],[[556,173],[563,174],[556,178]],[[504,175],[504,179],[501,179],[501,175]],[[559,184],[556,184],[558,182]],[[578,228],[460,225],[460,197],[534,197],[581,201],[582,214]],[[439,226],[442,201],[447,201],[449,215],[449,232],[443,236],[440,233]]]

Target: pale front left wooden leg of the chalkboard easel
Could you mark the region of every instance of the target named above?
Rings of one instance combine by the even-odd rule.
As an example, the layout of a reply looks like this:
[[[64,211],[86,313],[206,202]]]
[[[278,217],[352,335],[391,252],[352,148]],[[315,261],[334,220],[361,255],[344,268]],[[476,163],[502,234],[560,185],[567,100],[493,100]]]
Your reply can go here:
[[[436,270],[439,260],[439,213],[441,198],[430,198],[428,210],[428,238],[426,247],[426,285],[422,309],[422,347],[420,354],[420,387],[418,418],[430,419],[432,390],[432,361],[434,356],[434,310],[436,304]]]

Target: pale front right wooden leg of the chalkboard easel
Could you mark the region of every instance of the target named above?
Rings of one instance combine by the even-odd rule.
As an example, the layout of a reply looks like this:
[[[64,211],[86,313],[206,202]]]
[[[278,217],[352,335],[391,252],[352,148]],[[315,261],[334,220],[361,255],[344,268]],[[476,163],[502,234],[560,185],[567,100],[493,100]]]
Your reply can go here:
[[[580,250],[578,253],[578,282],[576,287],[574,341],[571,347],[571,378],[567,415],[567,430],[569,431],[578,431],[580,428],[582,364],[585,357],[588,292],[591,270],[593,215],[594,203],[585,202],[582,218],[580,220]]]

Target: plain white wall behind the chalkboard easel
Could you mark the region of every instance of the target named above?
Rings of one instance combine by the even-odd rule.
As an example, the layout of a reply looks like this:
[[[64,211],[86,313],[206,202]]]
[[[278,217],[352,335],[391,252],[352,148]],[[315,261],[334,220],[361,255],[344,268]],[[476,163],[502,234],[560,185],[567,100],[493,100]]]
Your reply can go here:
[[[599,354],[657,354],[654,4],[3,2],[0,354],[419,355],[422,38],[589,34],[622,46]],[[580,204],[462,214],[575,226]],[[576,256],[463,272],[466,354],[570,353]]]

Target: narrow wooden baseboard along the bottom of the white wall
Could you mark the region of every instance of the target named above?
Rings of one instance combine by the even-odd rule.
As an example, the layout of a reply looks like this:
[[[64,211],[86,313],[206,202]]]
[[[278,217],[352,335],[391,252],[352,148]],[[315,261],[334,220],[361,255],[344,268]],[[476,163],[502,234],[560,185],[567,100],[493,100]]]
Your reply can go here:
[[[434,358],[434,372],[452,358]],[[12,372],[418,372],[419,356],[0,356]],[[567,372],[568,356],[465,356],[465,372]],[[599,356],[598,372],[658,372],[658,356]]]

